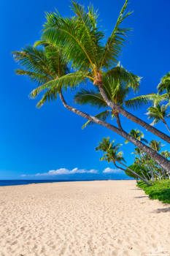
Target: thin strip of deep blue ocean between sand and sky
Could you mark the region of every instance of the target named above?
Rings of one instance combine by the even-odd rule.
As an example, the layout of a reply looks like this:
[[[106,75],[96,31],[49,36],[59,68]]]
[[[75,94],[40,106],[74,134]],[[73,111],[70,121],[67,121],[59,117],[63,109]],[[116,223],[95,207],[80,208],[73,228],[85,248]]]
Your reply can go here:
[[[112,178],[110,178],[112,179]],[[113,178],[114,180],[120,180],[121,178]],[[123,178],[129,179],[129,178]],[[53,182],[69,182],[69,181],[95,181],[96,179],[85,179],[85,180],[0,180],[0,187],[4,186],[16,186],[16,185],[27,185],[27,184],[39,184],[39,183],[53,183]],[[97,180],[108,180],[107,179],[97,179]]]

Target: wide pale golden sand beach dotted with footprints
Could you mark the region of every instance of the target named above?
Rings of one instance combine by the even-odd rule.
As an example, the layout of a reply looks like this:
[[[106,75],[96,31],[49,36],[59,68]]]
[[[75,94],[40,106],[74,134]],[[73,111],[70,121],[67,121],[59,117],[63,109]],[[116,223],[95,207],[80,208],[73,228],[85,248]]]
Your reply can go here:
[[[0,255],[170,255],[170,207],[135,181],[0,187]]]

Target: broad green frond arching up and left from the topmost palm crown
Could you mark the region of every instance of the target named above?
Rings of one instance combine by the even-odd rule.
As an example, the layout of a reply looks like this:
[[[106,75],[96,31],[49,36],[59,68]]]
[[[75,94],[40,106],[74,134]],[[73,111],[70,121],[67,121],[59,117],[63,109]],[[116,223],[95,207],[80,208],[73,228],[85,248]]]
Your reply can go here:
[[[72,61],[74,69],[89,69],[89,67],[95,69],[96,61],[91,55],[92,48],[88,47],[89,43],[92,44],[92,42],[89,42],[89,33],[94,37],[95,32],[88,28],[87,23],[90,22],[90,19],[83,12],[82,7],[79,4],[74,4],[73,8],[79,16],[64,19],[58,12],[46,13],[47,22],[45,23],[42,40],[47,40],[53,45],[61,47],[64,45],[63,50],[66,59]]]

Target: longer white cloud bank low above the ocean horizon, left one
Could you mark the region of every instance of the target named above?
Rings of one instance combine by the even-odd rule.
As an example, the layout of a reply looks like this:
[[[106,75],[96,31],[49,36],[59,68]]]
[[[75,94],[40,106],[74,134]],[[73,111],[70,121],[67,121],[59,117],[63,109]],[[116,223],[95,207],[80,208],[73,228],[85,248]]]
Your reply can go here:
[[[98,173],[98,170],[85,170],[85,169],[78,169],[77,167],[68,170],[66,168],[60,168],[58,170],[49,170],[48,173],[36,173],[35,176],[55,176],[55,175],[63,175],[63,174],[75,174],[75,173]]]

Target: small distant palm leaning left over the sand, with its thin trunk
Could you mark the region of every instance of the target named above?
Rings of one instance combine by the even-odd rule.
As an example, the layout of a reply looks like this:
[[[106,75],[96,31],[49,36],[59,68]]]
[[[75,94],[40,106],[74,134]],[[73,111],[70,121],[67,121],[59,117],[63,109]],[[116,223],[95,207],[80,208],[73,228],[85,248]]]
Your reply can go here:
[[[120,151],[121,144],[115,144],[114,145],[114,143],[115,143],[115,140],[110,142],[109,138],[104,138],[103,140],[101,140],[99,145],[96,147],[96,151],[103,151],[104,152],[104,157],[101,157],[100,160],[101,161],[106,160],[107,162],[113,162],[115,167],[123,170],[124,172],[127,172],[127,170],[128,170],[128,173],[131,173],[136,178],[140,178],[148,186],[151,186],[151,184],[149,184],[147,182],[146,178],[143,178],[138,173],[135,173],[134,170],[131,170],[131,168],[129,168],[128,166],[126,166],[123,163],[123,162],[125,162],[125,159],[123,158],[123,151]],[[117,166],[116,162],[118,162],[120,165],[123,165],[123,167],[125,167],[125,169],[123,167]]]

